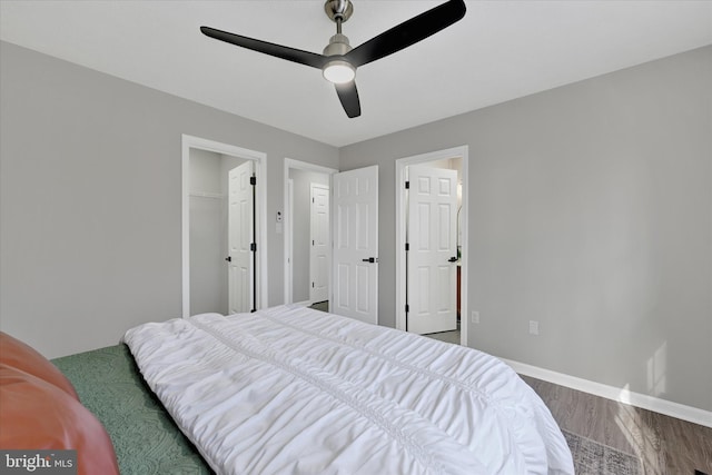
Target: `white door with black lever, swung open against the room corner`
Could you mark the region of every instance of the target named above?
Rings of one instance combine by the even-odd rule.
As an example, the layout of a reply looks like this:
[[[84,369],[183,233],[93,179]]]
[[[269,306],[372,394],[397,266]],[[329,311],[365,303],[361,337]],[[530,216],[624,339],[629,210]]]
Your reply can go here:
[[[330,311],[378,323],[378,166],[334,175]]]

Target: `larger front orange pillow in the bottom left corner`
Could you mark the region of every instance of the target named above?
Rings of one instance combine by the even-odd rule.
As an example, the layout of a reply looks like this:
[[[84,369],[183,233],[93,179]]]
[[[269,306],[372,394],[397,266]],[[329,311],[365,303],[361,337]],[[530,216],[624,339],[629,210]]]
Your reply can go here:
[[[89,409],[6,364],[0,364],[0,448],[76,449],[78,474],[119,474],[111,439]]]

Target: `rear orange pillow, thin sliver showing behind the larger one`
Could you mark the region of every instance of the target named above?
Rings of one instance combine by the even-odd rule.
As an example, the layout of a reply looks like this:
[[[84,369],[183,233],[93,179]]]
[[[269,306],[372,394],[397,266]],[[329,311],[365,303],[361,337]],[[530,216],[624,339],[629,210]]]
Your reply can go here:
[[[43,379],[79,400],[69,379],[31,346],[0,331],[0,364],[12,366]]]

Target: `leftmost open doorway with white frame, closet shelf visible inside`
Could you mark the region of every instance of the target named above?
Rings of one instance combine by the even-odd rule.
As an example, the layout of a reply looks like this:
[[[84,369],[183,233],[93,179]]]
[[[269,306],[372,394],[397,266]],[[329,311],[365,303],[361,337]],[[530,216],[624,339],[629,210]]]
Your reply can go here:
[[[182,315],[267,305],[266,156],[182,136]]]

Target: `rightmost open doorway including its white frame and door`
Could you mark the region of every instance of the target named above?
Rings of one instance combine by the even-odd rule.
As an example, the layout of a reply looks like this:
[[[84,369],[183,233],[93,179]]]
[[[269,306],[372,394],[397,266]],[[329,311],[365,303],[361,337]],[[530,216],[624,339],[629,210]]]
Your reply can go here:
[[[396,328],[467,345],[467,147],[396,160]]]

